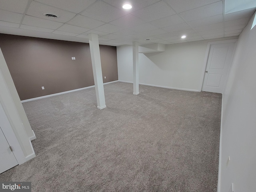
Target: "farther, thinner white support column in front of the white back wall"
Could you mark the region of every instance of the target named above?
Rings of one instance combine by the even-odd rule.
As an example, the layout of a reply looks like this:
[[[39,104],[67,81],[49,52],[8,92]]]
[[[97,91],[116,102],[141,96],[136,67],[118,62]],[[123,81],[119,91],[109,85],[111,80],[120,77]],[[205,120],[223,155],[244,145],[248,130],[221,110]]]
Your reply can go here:
[[[133,94],[139,94],[139,43],[132,42],[133,57]]]

